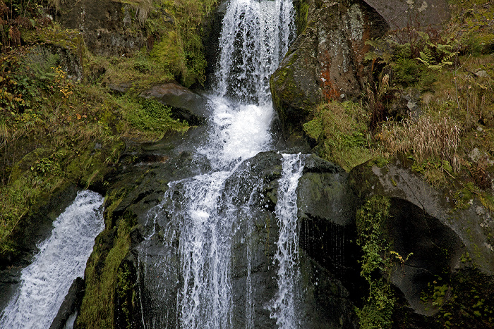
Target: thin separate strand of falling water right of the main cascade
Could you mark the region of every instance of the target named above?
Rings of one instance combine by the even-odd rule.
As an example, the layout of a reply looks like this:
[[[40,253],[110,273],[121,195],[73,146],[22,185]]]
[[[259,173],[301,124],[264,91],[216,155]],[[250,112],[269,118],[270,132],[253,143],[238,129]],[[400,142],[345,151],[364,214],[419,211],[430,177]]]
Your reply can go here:
[[[300,154],[283,154],[283,172],[279,180],[276,216],[279,225],[278,292],[272,301],[272,317],[279,328],[299,328],[297,321],[297,283],[299,280],[299,235],[297,234],[296,188],[299,185],[303,165]]]

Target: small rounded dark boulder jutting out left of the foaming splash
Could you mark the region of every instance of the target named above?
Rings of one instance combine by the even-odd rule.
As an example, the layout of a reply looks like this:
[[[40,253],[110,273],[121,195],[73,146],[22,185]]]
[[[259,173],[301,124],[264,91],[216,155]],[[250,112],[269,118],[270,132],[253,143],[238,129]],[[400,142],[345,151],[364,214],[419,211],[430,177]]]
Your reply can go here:
[[[200,125],[207,118],[207,99],[176,82],[155,85],[141,92],[140,97],[156,99],[171,106],[176,118],[187,120],[190,125]]]

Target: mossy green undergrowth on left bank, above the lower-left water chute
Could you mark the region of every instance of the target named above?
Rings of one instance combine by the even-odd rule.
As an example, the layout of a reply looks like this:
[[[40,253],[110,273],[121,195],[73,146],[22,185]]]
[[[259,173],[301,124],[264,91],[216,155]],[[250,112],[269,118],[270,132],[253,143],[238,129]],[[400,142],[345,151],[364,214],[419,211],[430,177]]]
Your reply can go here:
[[[101,184],[125,139],[188,129],[157,101],[73,80],[50,49],[35,44],[0,56],[1,259],[22,249],[20,228],[30,229],[31,209],[54,190]]]

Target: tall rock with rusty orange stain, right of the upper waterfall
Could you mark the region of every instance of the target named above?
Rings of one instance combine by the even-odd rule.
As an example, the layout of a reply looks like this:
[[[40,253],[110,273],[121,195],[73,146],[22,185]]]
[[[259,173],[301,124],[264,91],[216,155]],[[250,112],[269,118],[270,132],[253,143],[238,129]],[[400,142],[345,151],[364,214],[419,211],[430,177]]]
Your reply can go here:
[[[270,79],[284,128],[299,129],[313,106],[361,93],[363,56],[370,38],[387,31],[385,20],[363,1],[311,1],[306,29]]]

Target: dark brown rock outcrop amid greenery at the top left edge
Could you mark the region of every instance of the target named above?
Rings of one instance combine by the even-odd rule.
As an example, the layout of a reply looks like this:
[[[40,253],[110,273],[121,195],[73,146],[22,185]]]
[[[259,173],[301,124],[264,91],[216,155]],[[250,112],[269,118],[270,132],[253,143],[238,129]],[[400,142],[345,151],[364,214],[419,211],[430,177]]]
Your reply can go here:
[[[83,32],[86,46],[94,54],[123,56],[145,45],[146,35],[135,22],[131,4],[110,0],[61,2],[57,13],[61,25]]]

